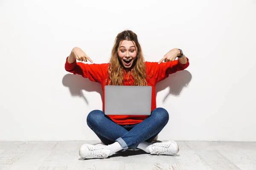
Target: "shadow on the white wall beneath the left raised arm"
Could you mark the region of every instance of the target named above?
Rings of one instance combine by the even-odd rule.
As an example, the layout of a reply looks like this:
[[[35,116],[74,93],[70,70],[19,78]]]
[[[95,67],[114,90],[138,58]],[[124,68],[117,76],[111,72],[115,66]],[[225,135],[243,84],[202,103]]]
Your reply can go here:
[[[89,101],[86,99],[82,90],[93,92],[96,91],[100,94],[103,99],[102,87],[98,82],[92,82],[87,78],[81,77],[80,75],[66,74],[62,79],[62,84],[68,87],[72,96],[81,96],[87,105]]]

